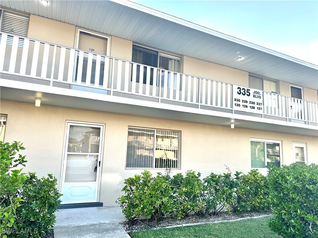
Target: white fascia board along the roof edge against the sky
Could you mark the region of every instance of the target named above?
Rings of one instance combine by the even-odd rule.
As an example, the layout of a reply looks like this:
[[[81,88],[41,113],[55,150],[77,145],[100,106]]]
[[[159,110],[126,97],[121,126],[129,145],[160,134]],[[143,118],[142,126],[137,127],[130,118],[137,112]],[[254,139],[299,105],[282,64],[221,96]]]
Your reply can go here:
[[[315,64],[312,64],[312,63],[309,63],[309,62],[294,58],[292,56],[288,56],[288,55],[279,53],[279,52],[274,51],[274,50],[267,49],[265,47],[262,47],[262,46],[259,46],[259,45],[256,45],[256,44],[241,40],[241,39],[233,37],[233,36],[226,35],[224,33],[218,32],[216,30],[211,30],[211,29],[209,29],[207,27],[204,27],[204,26],[198,25],[196,23],[192,23],[192,22],[183,20],[181,18],[178,18],[178,17],[172,16],[172,15],[169,15],[167,13],[164,13],[164,12],[161,12],[161,11],[158,11],[158,10],[155,10],[155,9],[140,5],[138,3],[130,2],[130,1],[127,1],[127,0],[109,0],[109,1],[121,4],[121,5],[129,7],[129,8],[133,8],[133,9],[138,10],[138,11],[142,11],[142,12],[148,13],[148,14],[156,16],[156,17],[160,17],[160,18],[165,19],[167,21],[170,21],[170,22],[173,22],[173,23],[176,23],[176,24],[180,24],[180,25],[183,25],[185,27],[189,27],[189,28],[194,29],[194,30],[199,30],[201,32],[210,34],[212,36],[217,36],[219,38],[222,38],[222,39],[234,42],[234,43],[238,43],[240,45],[244,45],[244,46],[247,46],[249,48],[252,48],[252,49],[255,49],[255,50],[259,50],[259,51],[262,51],[262,52],[265,52],[265,53],[268,53],[268,54],[271,54],[271,55],[274,55],[274,56],[278,56],[280,58],[289,60],[291,62],[302,64],[302,65],[307,66],[309,68],[318,70],[318,65],[315,65]]]

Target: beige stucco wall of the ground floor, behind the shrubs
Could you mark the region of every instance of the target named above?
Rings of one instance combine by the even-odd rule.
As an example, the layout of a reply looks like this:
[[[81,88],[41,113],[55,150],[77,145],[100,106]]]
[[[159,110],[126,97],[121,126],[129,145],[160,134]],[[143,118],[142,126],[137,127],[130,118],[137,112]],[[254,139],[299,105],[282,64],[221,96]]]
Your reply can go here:
[[[115,205],[121,195],[124,179],[141,173],[142,169],[125,169],[128,126],[172,129],[181,131],[181,166],[177,172],[200,171],[202,176],[211,172],[248,172],[250,138],[282,141],[282,163],[293,162],[292,142],[307,143],[308,162],[318,163],[317,137],[275,133],[163,120],[150,117],[129,116],[90,110],[62,108],[34,103],[1,101],[1,113],[8,114],[5,142],[24,143],[27,166],[24,171],[36,171],[41,177],[52,173],[60,178],[63,157],[63,140],[66,120],[105,124],[105,142],[101,176],[100,202]],[[159,170],[151,170],[155,174]],[[162,170],[161,170],[162,171]],[[60,184],[58,185],[60,186]]]

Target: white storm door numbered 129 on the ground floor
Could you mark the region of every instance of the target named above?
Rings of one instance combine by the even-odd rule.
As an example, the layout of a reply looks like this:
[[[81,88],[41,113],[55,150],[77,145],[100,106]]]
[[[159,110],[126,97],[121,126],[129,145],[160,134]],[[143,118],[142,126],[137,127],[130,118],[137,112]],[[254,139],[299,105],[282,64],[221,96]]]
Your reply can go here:
[[[68,122],[62,204],[98,202],[103,125]]]

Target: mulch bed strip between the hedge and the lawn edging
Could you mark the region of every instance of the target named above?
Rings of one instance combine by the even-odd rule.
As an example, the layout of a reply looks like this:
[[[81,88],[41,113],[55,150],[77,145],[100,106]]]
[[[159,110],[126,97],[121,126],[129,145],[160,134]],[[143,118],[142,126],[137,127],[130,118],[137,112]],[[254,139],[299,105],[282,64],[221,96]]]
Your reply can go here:
[[[153,228],[163,228],[175,225],[183,225],[183,224],[191,224],[191,223],[199,223],[199,222],[213,222],[213,221],[225,221],[225,220],[234,220],[242,217],[253,217],[253,216],[261,216],[261,215],[269,215],[272,214],[272,211],[268,211],[265,213],[259,212],[245,212],[241,214],[233,214],[228,212],[218,213],[217,215],[206,215],[204,217],[197,215],[189,215],[184,217],[183,219],[175,219],[172,217],[164,217],[162,221],[156,223],[156,221],[151,220],[137,220],[134,221],[130,226],[128,222],[122,223],[121,226],[126,230],[126,232],[131,231],[139,231],[139,230],[147,230]]]

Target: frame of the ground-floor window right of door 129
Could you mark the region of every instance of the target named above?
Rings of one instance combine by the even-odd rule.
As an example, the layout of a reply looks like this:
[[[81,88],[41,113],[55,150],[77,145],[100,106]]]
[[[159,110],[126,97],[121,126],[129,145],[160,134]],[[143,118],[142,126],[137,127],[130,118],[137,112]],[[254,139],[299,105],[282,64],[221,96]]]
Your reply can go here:
[[[181,157],[181,152],[180,152],[180,148],[181,148],[181,131],[179,130],[170,130],[170,129],[158,129],[158,128],[149,128],[149,127],[135,127],[135,126],[128,126],[127,128],[127,142],[126,142],[126,153],[125,153],[125,169],[166,169],[166,168],[155,168],[155,161],[156,158],[154,156],[154,161],[153,161],[153,166],[151,167],[126,167],[127,165],[127,152],[128,152],[128,130],[129,128],[133,128],[133,129],[146,129],[146,130],[154,130],[155,131],[155,136],[154,136],[154,153],[156,153],[156,135],[157,135],[157,130],[166,130],[166,131],[174,131],[174,132],[178,132],[178,149],[177,149],[177,153],[178,153],[178,159],[177,159],[177,167],[178,168],[171,168],[172,170],[180,170],[181,168],[181,163],[180,163],[180,157]]]

